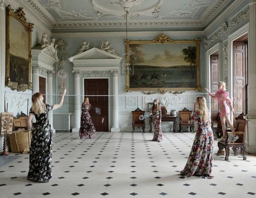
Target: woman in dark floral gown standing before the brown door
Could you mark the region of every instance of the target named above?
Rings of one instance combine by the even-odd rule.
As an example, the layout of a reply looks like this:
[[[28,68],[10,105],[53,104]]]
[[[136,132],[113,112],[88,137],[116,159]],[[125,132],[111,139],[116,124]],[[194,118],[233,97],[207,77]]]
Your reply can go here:
[[[85,97],[84,102],[82,104],[81,123],[79,129],[79,136],[81,139],[85,135],[89,135],[89,138],[91,139],[92,134],[96,133],[95,126],[92,123],[91,115],[89,114],[90,108],[91,104],[89,103],[89,98]]]

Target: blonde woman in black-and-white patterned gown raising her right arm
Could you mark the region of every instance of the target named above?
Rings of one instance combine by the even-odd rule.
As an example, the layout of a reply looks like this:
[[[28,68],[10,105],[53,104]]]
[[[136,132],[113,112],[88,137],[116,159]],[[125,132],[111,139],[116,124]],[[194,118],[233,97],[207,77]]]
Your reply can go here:
[[[62,106],[65,94],[66,89],[64,88],[59,103],[55,105],[44,104],[44,97],[39,92],[32,95],[32,106],[28,118],[29,128],[32,129],[28,180],[48,182],[52,177],[52,132],[48,113],[50,110],[57,110]],[[33,115],[36,118],[34,125],[32,124]]]

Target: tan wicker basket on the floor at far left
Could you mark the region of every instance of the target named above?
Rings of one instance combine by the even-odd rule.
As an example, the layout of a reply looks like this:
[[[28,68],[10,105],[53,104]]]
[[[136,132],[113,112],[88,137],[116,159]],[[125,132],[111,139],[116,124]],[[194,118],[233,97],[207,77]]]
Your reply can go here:
[[[13,131],[10,135],[10,147],[13,153],[28,153],[29,144],[31,143],[31,132]]]

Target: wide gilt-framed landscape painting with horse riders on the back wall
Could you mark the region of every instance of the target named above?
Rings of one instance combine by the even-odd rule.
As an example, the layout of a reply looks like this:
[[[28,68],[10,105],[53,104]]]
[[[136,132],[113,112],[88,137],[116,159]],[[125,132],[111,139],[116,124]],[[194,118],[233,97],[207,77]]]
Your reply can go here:
[[[201,91],[200,39],[125,40],[125,91]],[[133,66],[133,73],[129,68]]]

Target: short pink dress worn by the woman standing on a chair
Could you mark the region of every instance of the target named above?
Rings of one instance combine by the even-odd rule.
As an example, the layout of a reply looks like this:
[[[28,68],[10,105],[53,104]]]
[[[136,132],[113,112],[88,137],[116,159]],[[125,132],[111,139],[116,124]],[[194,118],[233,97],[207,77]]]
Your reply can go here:
[[[209,93],[209,95],[211,95],[213,98],[218,99],[220,117],[225,117],[225,115],[230,115],[230,108],[228,107],[226,102],[230,105],[231,108],[232,108],[232,103],[231,103],[230,97],[228,96],[227,90],[224,91],[221,89],[215,92],[214,94]]]

